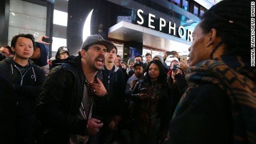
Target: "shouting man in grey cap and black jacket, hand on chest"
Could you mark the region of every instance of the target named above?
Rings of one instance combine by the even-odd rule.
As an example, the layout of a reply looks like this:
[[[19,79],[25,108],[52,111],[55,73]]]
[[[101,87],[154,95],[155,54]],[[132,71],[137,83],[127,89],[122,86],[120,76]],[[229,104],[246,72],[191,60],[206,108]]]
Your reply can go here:
[[[91,35],[83,42],[77,57],[67,58],[52,68],[42,86],[37,116],[54,134],[44,137],[42,143],[67,143],[66,140],[86,143],[107,125],[91,115],[95,111],[92,110],[95,97],[107,93],[96,73],[102,70],[106,53],[113,48],[114,44],[100,35]]]

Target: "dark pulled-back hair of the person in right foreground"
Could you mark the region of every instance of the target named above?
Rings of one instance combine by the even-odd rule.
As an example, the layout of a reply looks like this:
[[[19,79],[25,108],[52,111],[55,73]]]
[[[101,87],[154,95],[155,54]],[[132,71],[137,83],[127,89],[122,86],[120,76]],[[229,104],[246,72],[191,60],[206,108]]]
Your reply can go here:
[[[203,33],[216,29],[224,44],[224,55],[250,58],[250,1],[225,0],[215,4],[201,17]],[[213,53],[212,52],[212,53]]]

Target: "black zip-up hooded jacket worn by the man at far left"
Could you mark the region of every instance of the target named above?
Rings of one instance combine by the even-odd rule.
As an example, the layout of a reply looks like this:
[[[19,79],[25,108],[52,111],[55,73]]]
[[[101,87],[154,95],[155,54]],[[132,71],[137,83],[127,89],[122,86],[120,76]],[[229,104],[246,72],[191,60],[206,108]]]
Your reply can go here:
[[[12,83],[17,101],[17,116],[31,116],[35,114],[37,98],[45,81],[43,69],[29,59],[30,67],[22,74],[13,61],[8,57],[0,62],[0,69]]]

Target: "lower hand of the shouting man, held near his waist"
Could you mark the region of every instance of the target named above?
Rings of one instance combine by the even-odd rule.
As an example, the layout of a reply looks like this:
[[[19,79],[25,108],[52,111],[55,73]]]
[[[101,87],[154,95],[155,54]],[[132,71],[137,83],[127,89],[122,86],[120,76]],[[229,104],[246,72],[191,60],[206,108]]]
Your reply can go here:
[[[99,129],[103,126],[103,123],[100,120],[95,118],[90,118],[87,122],[86,134],[89,136],[95,135],[99,132]]]

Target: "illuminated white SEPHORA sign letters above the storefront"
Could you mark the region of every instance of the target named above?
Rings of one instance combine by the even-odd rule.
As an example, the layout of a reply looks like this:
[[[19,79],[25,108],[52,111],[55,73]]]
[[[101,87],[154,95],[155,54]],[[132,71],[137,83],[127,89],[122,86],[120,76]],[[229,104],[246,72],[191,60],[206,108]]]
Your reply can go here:
[[[183,26],[176,27],[176,23],[166,22],[165,19],[159,18],[158,20],[155,18],[154,14],[149,13],[147,16],[143,14],[143,11],[139,9],[137,11],[137,17],[139,18],[137,24],[142,26],[146,26],[157,31],[168,33],[173,36],[177,36],[183,38],[186,36],[186,41],[192,42],[192,32],[190,29],[186,29]],[[145,23],[144,19],[147,20]]]

